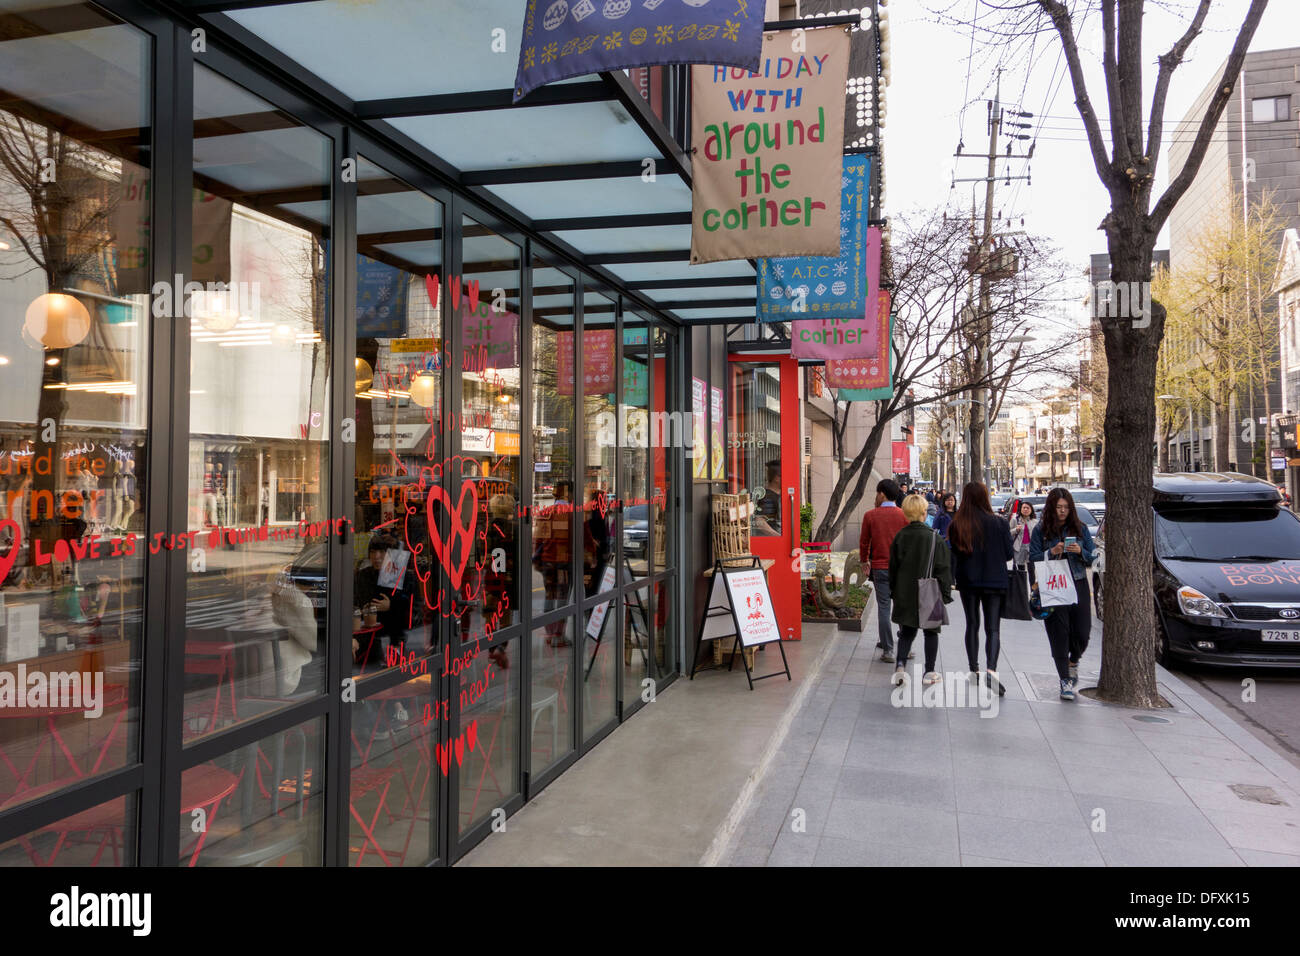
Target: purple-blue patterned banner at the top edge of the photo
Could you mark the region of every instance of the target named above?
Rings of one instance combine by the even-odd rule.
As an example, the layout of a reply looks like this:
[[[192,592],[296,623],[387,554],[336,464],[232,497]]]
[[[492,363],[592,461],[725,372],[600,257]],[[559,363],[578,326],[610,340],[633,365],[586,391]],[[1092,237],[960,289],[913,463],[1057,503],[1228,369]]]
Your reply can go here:
[[[515,101],[555,79],[628,66],[759,69],[763,13],[763,0],[528,0]]]

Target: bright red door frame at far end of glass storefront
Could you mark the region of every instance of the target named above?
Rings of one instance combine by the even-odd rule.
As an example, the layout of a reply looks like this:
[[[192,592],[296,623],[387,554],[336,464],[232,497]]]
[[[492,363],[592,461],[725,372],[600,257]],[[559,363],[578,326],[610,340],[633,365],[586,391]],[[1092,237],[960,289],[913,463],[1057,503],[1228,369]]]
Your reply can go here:
[[[775,563],[767,572],[767,585],[772,593],[772,606],[776,609],[776,624],[786,640],[800,640],[803,635],[803,610],[800,593],[800,566],[797,554],[800,548],[800,467],[803,462],[800,447],[800,365],[789,355],[772,355],[771,352],[744,354],[736,352],[727,356],[728,360],[728,398],[731,402],[731,415],[728,428],[736,420],[740,395],[736,392],[736,378],[732,375],[731,363],[776,365],[781,378],[781,533],[776,537],[754,535],[750,537],[750,550],[762,558],[764,563]],[[734,436],[732,436],[734,437]],[[729,455],[729,486],[733,492],[740,490],[741,459],[744,450],[740,446],[732,447]]]

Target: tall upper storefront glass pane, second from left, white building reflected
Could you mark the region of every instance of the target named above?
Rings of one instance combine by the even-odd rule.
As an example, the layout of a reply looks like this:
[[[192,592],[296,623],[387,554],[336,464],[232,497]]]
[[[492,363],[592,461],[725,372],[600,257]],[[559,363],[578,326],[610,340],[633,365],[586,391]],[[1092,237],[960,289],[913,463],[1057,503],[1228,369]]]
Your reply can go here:
[[[330,181],[325,137],[195,68],[186,740],[324,685]]]

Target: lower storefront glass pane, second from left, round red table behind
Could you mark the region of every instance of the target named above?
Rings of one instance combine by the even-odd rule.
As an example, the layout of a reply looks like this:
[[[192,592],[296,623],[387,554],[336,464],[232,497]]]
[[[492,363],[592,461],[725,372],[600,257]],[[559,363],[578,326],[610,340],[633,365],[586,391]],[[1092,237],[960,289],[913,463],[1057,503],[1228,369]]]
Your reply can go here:
[[[179,865],[320,866],[324,731],[316,718],[181,774]]]

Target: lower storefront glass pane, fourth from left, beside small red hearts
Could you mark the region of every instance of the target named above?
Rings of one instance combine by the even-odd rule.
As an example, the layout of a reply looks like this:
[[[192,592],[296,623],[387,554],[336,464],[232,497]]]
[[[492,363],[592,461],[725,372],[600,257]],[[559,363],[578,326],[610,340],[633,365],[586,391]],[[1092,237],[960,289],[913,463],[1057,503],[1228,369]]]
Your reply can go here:
[[[463,834],[519,793],[519,640],[480,653],[451,685],[460,695],[464,740],[458,821]],[[454,753],[456,740],[450,745]]]

